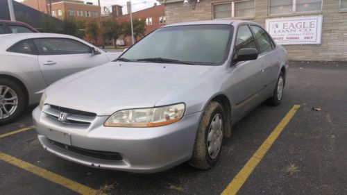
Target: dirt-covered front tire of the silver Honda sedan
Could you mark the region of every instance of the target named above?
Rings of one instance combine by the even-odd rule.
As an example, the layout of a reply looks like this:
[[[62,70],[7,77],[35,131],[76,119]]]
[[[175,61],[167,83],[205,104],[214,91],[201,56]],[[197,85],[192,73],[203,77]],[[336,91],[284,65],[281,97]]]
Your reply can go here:
[[[224,121],[223,107],[216,101],[208,104],[198,126],[194,151],[189,164],[198,169],[211,169],[217,163],[223,144]]]

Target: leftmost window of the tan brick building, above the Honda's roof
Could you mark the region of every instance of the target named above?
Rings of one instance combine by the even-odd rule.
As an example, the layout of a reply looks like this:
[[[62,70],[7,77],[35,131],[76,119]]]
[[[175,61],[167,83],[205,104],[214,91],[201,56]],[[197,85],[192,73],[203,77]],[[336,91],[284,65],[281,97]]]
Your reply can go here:
[[[213,19],[254,16],[255,0],[232,1],[213,5]]]

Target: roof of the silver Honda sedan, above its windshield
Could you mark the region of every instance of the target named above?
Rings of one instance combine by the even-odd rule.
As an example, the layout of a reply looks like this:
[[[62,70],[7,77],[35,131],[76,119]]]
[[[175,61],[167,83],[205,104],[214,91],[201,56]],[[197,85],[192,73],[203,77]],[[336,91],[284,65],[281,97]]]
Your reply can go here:
[[[232,25],[237,26],[238,24],[248,23],[248,24],[257,24],[255,22],[241,20],[241,19],[214,19],[214,20],[204,20],[204,21],[196,21],[196,22],[181,22],[176,24],[169,24],[165,27],[170,26],[189,26],[189,25],[208,25],[208,24],[224,24],[224,25]]]

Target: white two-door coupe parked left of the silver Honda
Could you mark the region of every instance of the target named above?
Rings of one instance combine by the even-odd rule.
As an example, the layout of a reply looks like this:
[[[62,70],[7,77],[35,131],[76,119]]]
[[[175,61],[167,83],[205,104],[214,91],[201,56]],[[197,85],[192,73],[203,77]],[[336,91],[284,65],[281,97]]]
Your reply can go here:
[[[0,35],[0,124],[14,121],[26,105],[38,103],[51,83],[115,60],[77,37],[50,33]]]

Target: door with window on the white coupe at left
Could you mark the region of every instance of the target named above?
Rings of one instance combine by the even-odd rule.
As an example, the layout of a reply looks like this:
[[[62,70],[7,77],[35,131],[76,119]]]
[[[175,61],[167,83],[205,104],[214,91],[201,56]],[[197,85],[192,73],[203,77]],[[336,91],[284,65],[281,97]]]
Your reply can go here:
[[[40,38],[34,40],[39,51],[38,61],[46,83],[84,69],[108,62],[105,53],[94,54],[92,48],[68,38]]]

